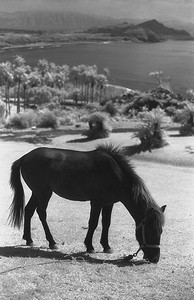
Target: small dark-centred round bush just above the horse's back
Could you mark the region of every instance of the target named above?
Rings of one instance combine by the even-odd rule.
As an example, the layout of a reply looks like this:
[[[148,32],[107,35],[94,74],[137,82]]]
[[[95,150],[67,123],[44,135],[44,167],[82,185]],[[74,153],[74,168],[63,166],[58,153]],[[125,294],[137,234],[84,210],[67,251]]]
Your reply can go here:
[[[107,116],[104,113],[93,113],[88,119],[89,130],[85,131],[83,135],[86,135],[89,139],[106,138],[111,131],[108,125]]]

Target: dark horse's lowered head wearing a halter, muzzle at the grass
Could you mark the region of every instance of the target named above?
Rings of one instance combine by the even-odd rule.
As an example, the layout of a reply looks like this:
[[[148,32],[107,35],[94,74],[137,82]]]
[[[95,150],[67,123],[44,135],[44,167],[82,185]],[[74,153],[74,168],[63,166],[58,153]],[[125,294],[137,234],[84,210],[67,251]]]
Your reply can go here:
[[[140,249],[144,252],[144,258],[152,263],[157,263],[160,259],[160,238],[165,208],[166,206],[162,206],[161,211],[149,209],[145,218],[136,227],[136,238]]]

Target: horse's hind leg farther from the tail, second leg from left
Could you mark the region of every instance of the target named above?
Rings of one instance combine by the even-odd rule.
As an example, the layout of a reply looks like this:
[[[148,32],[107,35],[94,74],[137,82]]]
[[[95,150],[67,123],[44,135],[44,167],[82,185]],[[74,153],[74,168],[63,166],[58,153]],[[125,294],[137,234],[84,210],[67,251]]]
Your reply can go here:
[[[50,229],[49,229],[47,221],[46,221],[46,217],[47,217],[46,209],[47,209],[48,201],[49,201],[51,195],[52,195],[52,192],[47,192],[47,194],[46,195],[44,194],[44,196],[42,196],[41,198],[39,196],[39,201],[38,201],[38,205],[37,205],[37,213],[38,213],[39,219],[42,223],[42,226],[44,228],[46,239],[49,242],[49,248],[57,249],[56,242],[53,239],[53,236],[50,232]]]

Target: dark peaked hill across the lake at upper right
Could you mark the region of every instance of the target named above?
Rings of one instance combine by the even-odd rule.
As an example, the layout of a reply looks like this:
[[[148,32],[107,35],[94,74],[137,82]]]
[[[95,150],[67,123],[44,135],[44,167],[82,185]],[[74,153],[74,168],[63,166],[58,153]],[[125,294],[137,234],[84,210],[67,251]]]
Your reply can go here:
[[[123,22],[101,28],[91,28],[89,33],[108,34],[112,37],[122,37],[142,42],[160,42],[167,39],[193,40],[194,38],[185,30],[166,27],[156,20],[150,20],[137,25]]]

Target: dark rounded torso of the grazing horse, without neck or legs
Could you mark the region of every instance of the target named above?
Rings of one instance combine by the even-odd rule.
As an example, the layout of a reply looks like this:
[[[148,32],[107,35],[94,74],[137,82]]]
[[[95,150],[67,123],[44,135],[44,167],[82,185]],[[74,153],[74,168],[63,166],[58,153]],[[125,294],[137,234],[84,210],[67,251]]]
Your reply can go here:
[[[54,191],[71,200],[107,199],[121,195],[122,172],[100,150],[75,151],[41,147],[22,158],[22,176],[32,191]]]

